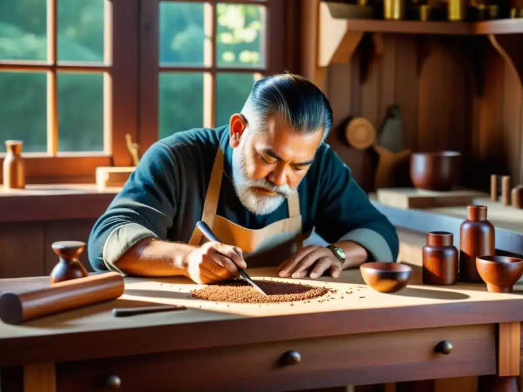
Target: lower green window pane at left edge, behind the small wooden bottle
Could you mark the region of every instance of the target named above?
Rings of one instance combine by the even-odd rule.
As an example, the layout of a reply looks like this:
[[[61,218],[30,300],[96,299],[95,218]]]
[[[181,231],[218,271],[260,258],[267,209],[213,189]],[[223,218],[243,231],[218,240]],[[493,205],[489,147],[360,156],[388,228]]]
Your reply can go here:
[[[47,151],[47,75],[0,72],[0,152],[23,140],[22,153]]]

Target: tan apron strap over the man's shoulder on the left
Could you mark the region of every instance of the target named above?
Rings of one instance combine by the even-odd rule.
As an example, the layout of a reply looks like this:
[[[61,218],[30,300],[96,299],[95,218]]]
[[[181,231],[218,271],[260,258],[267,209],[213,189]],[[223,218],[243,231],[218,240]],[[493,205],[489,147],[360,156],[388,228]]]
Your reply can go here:
[[[222,186],[222,175],[223,175],[223,151],[221,147],[218,147],[216,157],[214,158],[214,164],[212,165],[211,178],[207,187],[207,194],[205,195],[205,202],[203,203],[203,214],[201,220],[209,225],[214,226],[214,217],[218,209],[218,200],[220,198],[220,188]],[[191,238],[189,239],[189,245],[200,245],[202,233],[195,227],[192,232]]]

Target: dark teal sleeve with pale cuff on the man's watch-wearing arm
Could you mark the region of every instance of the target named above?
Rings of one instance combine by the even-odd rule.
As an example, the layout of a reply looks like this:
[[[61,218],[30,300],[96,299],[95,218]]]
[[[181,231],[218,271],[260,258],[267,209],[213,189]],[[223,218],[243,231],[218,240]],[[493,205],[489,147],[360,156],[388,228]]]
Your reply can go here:
[[[376,261],[395,262],[399,239],[394,225],[370,202],[350,168],[327,148],[321,170],[321,190],[315,231],[329,243],[354,241]]]

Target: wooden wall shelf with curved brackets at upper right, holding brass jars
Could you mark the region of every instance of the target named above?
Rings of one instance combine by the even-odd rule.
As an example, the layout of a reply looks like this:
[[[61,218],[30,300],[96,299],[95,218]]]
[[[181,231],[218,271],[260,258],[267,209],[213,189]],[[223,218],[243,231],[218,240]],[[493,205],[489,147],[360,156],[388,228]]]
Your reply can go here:
[[[307,39],[316,42],[315,50],[309,48],[304,50],[304,70],[307,77],[320,88],[323,88],[325,82],[326,68],[331,64],[350,62],[360,43],[368,47],[369,41],[372,41],[374,49],[371,51],[380,52],[383,45],[381,33],[460,36],[461,40],[465,40],[460,41],[465,52],[471,52],[470,48],[475,48],[468,53],[471,63],[483,61],[480,54],[476,53],[476,49],[481,48],[482,45],[484,47],[483,40],[490,41],[505,60],[514,66],[520,79],[523,79],[523,52],[520,49],[523,48],[523,18],[482,22],[349,19],[344,7],[354,7],[354,5],[320,0],[304,1],[306,3],[304,3],[305,11],[302,17],[304,20],[310,20],[311,23],[316,20],[315,31],[311,33],[304,29]],[[369,39],[369,34],[366,33],[374,34]],[[486,40],[482,37],[486,37]],[[366,75],[365,68],[368,68],[371,59],[372,55],[361,61],[360,76],[363,80]],[[423,56],[420,56],[419,66],[421,64],[423,64]],[[478,72],[477,77],[482,78],[482,73]]]

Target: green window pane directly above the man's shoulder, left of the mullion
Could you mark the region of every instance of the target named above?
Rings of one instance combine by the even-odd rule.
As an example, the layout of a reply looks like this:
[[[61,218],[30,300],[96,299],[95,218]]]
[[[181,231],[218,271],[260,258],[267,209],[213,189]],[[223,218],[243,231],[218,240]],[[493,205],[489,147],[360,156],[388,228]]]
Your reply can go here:
[[[203,73],[161,73],[159,80],[160,139],[203,126]]]

